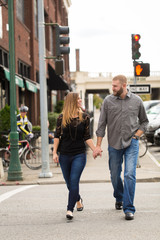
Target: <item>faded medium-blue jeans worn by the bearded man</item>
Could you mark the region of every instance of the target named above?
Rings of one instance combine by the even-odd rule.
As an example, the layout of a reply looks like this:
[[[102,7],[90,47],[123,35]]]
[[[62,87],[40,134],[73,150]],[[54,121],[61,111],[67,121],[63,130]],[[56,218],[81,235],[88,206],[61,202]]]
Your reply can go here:
[[[136,166],[139,153],[139,141],[132,138],[131,145],[127,148],[116,150],[108,147],[109,169],[114,189],[113,196],[116,202],[123,202],[123,211],[135,212],[134,195],[136,186]],[[122,163],[124,158],[124,185],[121,178]]]

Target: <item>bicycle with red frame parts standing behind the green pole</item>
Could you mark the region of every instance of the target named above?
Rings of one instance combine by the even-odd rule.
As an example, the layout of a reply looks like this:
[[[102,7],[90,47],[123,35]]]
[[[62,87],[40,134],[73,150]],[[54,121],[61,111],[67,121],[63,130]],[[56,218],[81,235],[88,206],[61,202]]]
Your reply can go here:
[[[31,139],[21,140],[19,141],[20,148],[18,150],[19,160],[21,163],[25,163],[25,165],[32,169],[38,170],[42,167],[41,164],[41,148],[34,146],[32,147],[30,144]],[[2,163],[4,170],[7,170],[10,163],[10,143],[6,148],[0,148],[0,153],[2,157]]]

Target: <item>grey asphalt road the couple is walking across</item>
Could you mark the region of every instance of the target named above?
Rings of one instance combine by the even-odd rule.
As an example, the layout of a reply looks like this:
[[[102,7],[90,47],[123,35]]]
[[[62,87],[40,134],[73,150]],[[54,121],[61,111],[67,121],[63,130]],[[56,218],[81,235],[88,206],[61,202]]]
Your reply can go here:
[[[1,186],[0,239],[158,240],[160,183],[137,183],[133,221],[114,209],[111,183],[81,184],[84,211],[65,218],[65,184]]]

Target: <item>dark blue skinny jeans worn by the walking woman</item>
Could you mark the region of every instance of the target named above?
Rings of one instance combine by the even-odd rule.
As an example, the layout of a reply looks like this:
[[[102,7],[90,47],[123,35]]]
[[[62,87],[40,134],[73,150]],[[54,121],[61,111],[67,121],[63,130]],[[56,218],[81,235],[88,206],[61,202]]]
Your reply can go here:
[[[74,156],[60,154],[59,163],[69,190],[67,210],[73,212],[76,202],[80,200],[79,181],[86,165],[86,154],[82,153]]]

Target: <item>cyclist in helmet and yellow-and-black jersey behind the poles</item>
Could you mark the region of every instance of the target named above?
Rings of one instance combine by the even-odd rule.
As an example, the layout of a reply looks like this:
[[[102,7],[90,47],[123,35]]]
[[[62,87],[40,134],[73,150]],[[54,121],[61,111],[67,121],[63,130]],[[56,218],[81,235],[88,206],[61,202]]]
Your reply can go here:
[[[17,115],[17,131],[19,132],[19,140],[23,139],[22,134],[28,135],[33,138],[33,133],[31,132],[31,123],[27,118],[28,107],[22,106],[20,108],[20,114]]]

